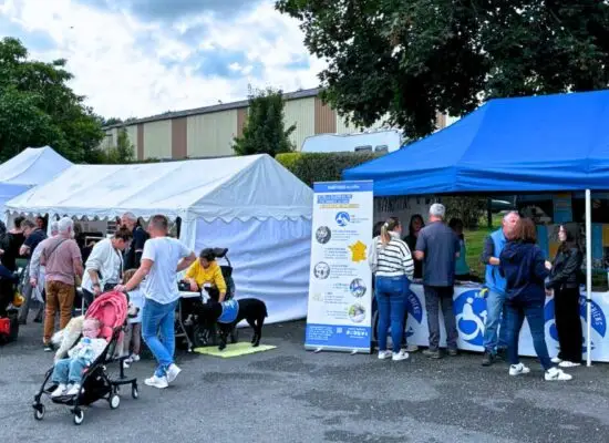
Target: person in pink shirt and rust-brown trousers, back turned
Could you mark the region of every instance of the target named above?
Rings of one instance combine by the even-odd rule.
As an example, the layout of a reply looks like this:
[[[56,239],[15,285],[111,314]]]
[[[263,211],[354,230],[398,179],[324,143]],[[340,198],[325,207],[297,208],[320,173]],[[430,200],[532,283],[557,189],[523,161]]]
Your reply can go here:
[[[40,265],[45,267],[47,308],[44,312],[44,350],[52,351],[51,337],[55,328],[55,315],[60,312],[60,329],[72,319],[75,279],[82,277],[83,266],[79,245],[72,238],[74,222],[63,217],[58,223],[58,236],[44,244]]]

